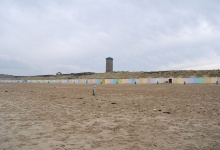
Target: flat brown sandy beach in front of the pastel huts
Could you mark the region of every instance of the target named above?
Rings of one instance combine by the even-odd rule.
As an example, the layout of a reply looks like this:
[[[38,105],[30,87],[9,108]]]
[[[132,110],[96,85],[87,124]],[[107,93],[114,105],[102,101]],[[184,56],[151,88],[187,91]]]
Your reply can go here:
[[[219,85],[0,84],[0,149],[220,150]]]

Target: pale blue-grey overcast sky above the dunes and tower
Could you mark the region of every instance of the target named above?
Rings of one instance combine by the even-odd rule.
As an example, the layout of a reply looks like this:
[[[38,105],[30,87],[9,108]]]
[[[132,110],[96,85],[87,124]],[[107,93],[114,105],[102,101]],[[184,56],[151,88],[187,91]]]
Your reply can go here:
[[[219,0],[0,0],[0,74],[220,69]]]

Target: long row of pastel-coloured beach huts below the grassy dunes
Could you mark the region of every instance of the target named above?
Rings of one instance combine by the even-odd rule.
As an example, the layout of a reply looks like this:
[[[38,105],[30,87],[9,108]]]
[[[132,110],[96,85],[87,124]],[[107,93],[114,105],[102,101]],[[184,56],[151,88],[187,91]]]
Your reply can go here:
[[[0,80],[0,83],[71,83],[71,84],[218,84],[220,77],[139,78],[139,79],[68,79],[68,80]]]

